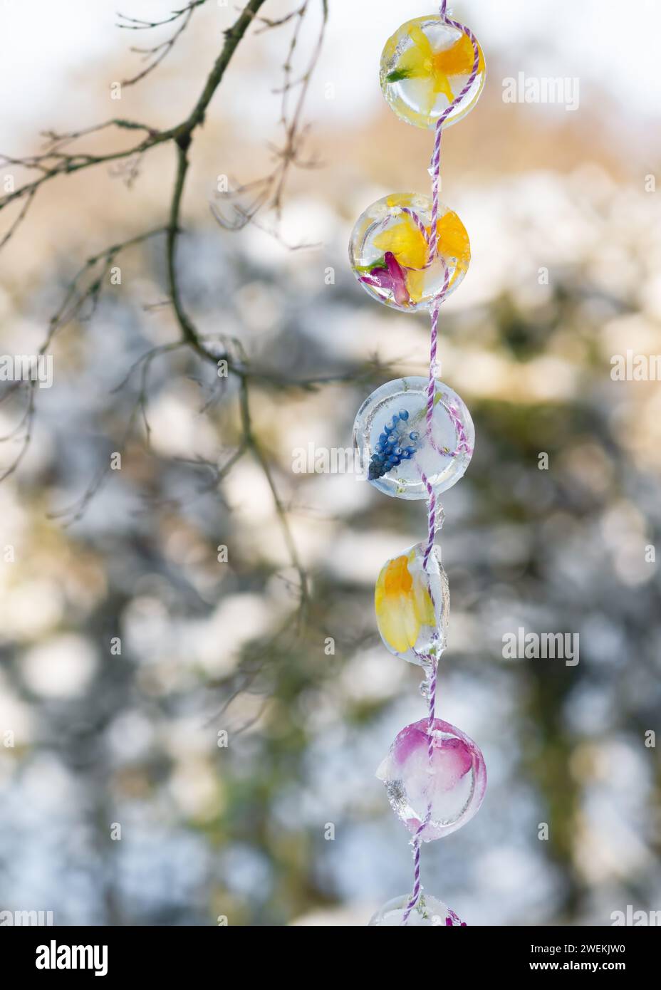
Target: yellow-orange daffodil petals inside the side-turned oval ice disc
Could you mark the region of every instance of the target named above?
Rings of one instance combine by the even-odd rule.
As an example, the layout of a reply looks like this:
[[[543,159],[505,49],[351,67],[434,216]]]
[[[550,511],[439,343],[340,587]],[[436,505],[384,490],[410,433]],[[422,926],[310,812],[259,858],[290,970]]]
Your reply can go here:
[[[424,626],[433,626],[435,616],[425,571],[414,568],[416,547],[389,560],[376,582],[376,619],[384,642],[398,653],[406,653],[419,640]]]

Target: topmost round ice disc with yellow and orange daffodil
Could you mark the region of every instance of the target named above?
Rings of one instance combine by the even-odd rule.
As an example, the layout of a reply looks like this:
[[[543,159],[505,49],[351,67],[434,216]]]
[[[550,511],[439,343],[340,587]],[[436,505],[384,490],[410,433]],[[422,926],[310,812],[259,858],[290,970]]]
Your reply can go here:
[[[380,69],[383,95],[397,116],[407,124],[433,128],[454,103],[443,128],[465,117],[477,103],[486,78],[484,54],[476,45],[477,65],[473,42],[453,24],[430,16],[403,24],[386,42]]]

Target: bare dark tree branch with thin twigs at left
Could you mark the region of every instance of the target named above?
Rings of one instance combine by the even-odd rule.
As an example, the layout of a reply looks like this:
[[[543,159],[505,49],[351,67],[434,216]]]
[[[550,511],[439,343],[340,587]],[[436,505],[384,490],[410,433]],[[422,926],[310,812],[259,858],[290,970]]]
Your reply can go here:
[[[165,57],[167,52],[172,49],[177,39],[181,36],[189,24],[194,10],[197,7],[202,6],[204,2],[205,0],[191,0],[191,2],[186,4],[185,7],[173,11],[170,17],[160,22],[141,21],[139,19],[119,15],[124,21],[120,27],[134,31],[147,30],[150,28],[157,28],[165,24],[180,22],[178,23],[177,30],[174,35],[168,41],[155,46],[153,49],[145,49],[144,53],[147,55],[152,55],[153,58],[138,76],[132,80],[129,80],[128,83],[125,83],[125,85],[137,82],[140,78],[143,78],[146,74],[148,74],[148,72],[155,68],[155,66],[162,60],[163,57]],[[246,451],[249,450],[252,453],[261,471],[263,472],[268,487],[271,491],[274,510],[280,523],[291,564],[298,574],[298,590],[303,608],[305,607],[309,596],[308,578],[293,538],[287,507],[282,500],[275,482],[272,465],[269,463],[252,430],[248,404],[248,383],[250,380],[254,380],[255,382],[273,387],[313,389],[321,382],[333,379],[310,379],[308,381],[288,380],[285,378],[279,378],[272,372],[259,368],[252,368],[248,364],[247,359],[240,347],[236,347],[237,356],[231,352],[230,347],[228,346],[231,342],[227,339],[223,350],[218,352],[218,348],[214,343],[208,341],[199,334],[188,312],[186,311],[182,300],[176,263],[177,246],[181,236],[181,203],[189,167],[188,155],[193,142],[194,134],[197,128],[204,123],[209,104],[211,103],[211,100],[225,75],[236,48],[248,28],[255,20],[258,19],[259,11],[264,3],[265,0],[248,0],[248,3],[246,3],[240,12],[236,23],[228,31],[226,31],[223,48],[221,49],[207,77],[202,92],[194,104],[189,116],[176,127],[165,131],[157,131],[142,123],[116,118],[102,124],[64,134],[47,132],[45,135],[47,138],[47,148],[42,153],[37,155],[24,158],[0,156],[7,164],[17,164],[24,167],[28,171],[38,173],[37,177],[26,181],[23,185],[19,186],[19,188],[0,197],[0,212],[14,202],[25,200],[18,217],[14,220],[2,241],[0,241],[0,247],[5,245],[11,239],[17,228],[25,221],[37,192],[45,183],[59,177],[60,175],[72,174],[86,168],[92,168],[96,165],[118,162],[122,163],[127,161],[130,164],[129,177],[131,178],[135,174],[136,165],[134,163],[137,160],[140,160],[143,154],[151,148],[170,142],[172,143],[176,153],[176,164],[174,187],[170,199],[166,225],[128,238],[126,241],[119,244],[106,247],[87,259],[69,284],[57,312],[50,320],[47,336],[43,346],[40,349],[40,354],[46,352],[47,347],[50,346],[55,334],[57,334],[59,330],[69,324],[72,320],[76,319],[80,321],[90,319],[96,309],[96,306],[98,305],[106,275],[112,267],[117,255],[121,251],[124,251],[129,247],[142,244],[146,240],[159,234],[164,234],[165,262],[170,297],[169,304],[172,307],[180,331],[180,338],[179,340],[170,342],[167,345],[153,347],[143,354],[142,357],[139,358],[139,360],[129,370],[124,381],[117,386],[118,389],[123,388],[128,383],[134,372],[140,372],[141,384],[139,393],[127,424],[124,438],[118,449],[120,452],[124,452],[126,450],[138,422],[142,422],[146,443],[148,445],[149,424],[146,413],[148,392],[147,384],[148,372],[155,357],[168,351],[172,351],[178,347],[190,347],[200,358],[208,362],[213,362],[215,365],[218,365],[218,362],[221,359],[226,360],[228,362],[228,371],[234,374],[239,381],[239,421],[241,424],[241,436],[235,453],[232,454],[232,456],[222,467],[215,468],[213,474],[213,485],[214,487],[217,487],[221,484],[232,467]],[[317,46],[313,52],[308,68],[302,78],[298,79],[296,82],[292,82],[291,78],[292,54],[296,48],[301,25],[310,8],[310,4],[311,0],[305,0],[305,2],[297,10],[293,11],[290,15],[281,19],[279,22],[262,21],[264,28],[278,27],[281,24],[289,23],[291,21],[295,22],[295,27],[292,39],[290,41],[285,65],[283,67],[284,83],[281,90],[281,123],[285,130],[285,142],[282,148],[275,149],[274,153],[278,159],[278,164],[271,176],[269,176],[266,180],[260,180],[260,182],[255,184],[255,188],[257,189],[258,205],[256,209],[249,214],[248,219],[252,219],[254,212],[256,212],[257,209],[267,202],[276,210],[276,212],[279,213],[289,168],[292,165],[296,165],[298,167],[311,167],[313,164],[311,162],[304,161],[300,154],[301,142],[304,140],[307,133],[307,129],[301,127],[301,118],[305,95],[323,43],[328,18],[327,0],[321,0],[323,12],[322,27]],[[264,30],[264,28],[262,30]],[[295,87],[299,88],[299,93],[294,107],[290,111],[289,94]],[[80,139],[98,134],[99,132],[110,128],[115,128],[120,131],[143,131],[144,137],[139,144],[135,144],[130,148],[113,150],[103,154],[75,150],[74,146]],[[243,224],[241,223],[238,226],[243,226]],[[86,305],[88,305],[88,312],[85,312]],[[341,380],[341,377],[342,376],[339,376],[339,378],[334,380]],[[35,416],[34,398],[34,382],[31,382],[29,404],[18,428],[19,430],[25,429],[24,444],[17,458],[15,458],[14,462],[5,470],[4,475],[0,476],[0,480],[2,480],[2,477],[7,477],[17,469],[30,444],[30,439],[32,437],[32,425]],[[81,498],[72,506],[56,513],[55,516],[57,518],[68,518],[69,525],[80,519],[86,507],[89,505],[89,502],[104,483],[109,470],[110,460],[100,469],[97,476],[94,478]]]

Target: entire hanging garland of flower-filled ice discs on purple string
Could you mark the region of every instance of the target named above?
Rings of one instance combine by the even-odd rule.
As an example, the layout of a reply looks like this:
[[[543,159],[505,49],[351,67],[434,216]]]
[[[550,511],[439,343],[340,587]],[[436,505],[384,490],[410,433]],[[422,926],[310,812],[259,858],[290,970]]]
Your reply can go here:
[[[440,202],[438,191],[443,129],[477,102],[485,80],[484,55],[470,29],[448,17],[443,0],[438,17],[408,21],[388,40],[380,79],[398,117],[435,129],[431,198],[394,193],[369,206],[353,228],[349,261],[377,302],[429,313],[429,373],[389,381],[372,392],[356,415],[353,444],[375,488],[395,498],[426,500],[426,541],[385,562],[374,607],[386,648],[424,669],[428,713],[399,733],[377,771],[393,811],[412,836],[415,869],[411,893],[385,904],[369,925],[455,928],[465,922],[423,890],[421,847],[473,818],[484,798],[487,769],[476,743],[435,717],[438,661],[447,642],[450,607],[435,543],[443,523],[438,496],[463,476],[475,445],[468,409],[436,378],[440,305],[470,263],[466,229]]]

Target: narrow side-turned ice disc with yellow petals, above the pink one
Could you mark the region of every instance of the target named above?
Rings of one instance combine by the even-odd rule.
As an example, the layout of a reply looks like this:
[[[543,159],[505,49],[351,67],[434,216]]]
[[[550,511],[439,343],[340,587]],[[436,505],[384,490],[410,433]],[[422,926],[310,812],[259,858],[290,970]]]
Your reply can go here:
[[[374,593],[376,622],[395,656],[420,666],[445,648],[450,605],[447,576],[437,546],[425,569],[425,546],[416,544],[381,568]]]

